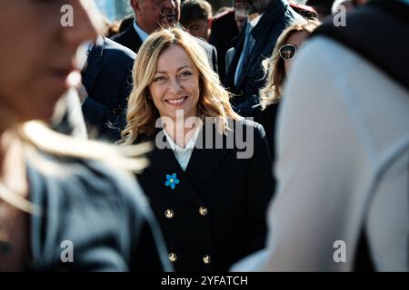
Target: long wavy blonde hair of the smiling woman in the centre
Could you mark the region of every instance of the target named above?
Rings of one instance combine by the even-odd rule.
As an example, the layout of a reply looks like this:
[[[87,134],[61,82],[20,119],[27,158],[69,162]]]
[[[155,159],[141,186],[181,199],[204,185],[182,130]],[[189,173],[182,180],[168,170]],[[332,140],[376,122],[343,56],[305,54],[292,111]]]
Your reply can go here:
[[[179,45],[185,50],[199,73],[198,117],[202,120],[205,117],[217,118],[217,129],[224,134],[229,129],[227,119],[241,118],[233,111],[229,92],[221,85],[218,75],[210,67],[205,50],[195,37],[179,28],[160,29],[145,40],[136,56],[134,89],[128,101],[127,125],[122,132],[124,144],[134,143],[139,135],[155,132],[155,122],[160,116],[153,100],[148,98],[148,86],[154,81],[159,56],[172,45]]]

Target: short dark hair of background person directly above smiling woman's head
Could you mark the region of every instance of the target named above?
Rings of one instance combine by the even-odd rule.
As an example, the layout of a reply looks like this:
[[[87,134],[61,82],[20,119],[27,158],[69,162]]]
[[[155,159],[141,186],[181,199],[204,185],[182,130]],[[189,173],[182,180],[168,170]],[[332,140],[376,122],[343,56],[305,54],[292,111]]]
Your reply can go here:
[[[212,5],[205,0],[186,0],[180,6],[180,23],[187,26],[198,19],[212,17]]]

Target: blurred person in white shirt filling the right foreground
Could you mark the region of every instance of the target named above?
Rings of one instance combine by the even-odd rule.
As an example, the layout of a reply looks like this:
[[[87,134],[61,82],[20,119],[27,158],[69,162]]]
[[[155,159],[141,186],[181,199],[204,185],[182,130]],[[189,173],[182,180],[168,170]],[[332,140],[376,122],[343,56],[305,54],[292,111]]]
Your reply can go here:
[[[280,104],[263,252],[234,270],[409,271],[408,0],[315,30]]]

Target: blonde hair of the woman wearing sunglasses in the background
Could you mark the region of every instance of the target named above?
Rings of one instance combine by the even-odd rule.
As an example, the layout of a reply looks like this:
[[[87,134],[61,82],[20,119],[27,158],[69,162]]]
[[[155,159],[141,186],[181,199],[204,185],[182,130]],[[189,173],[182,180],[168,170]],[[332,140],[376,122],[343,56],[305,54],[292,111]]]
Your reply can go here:
[[[284,29],[278,37],[271,57],[263,61],[264,75],[267,76],[264,88],[260,90],[260,102],[265,108],[271,103],[279,102],[283,95],[285,80],[284,60],[280,56],[280,47],[288,42],[291,35],[297,32],[312,34],[321,23],[318,20],[306,20],[304,23],[294,23]]]

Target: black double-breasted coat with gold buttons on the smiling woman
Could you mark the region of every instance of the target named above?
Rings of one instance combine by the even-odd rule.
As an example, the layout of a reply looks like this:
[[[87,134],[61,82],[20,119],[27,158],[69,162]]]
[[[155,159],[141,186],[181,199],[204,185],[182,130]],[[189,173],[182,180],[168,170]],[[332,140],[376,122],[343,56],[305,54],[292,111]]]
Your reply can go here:
[[[150,167],[137,177],[169,252],[177,256],[176,271],[226,271],[240,258],[264,247],[265,212],[273,194],[264,130],[252,121],[235,121],[234,125],[234,131],[229,131],[232,138],[240,126],[245,138],[254,138],[249,142],[254,150],[251,158],[238,159],[237,146],[195,148],[184,172],[170,148],[156,147],[149,155]],[[204,140],[211,136],[208,129],[214,134],[214,126],[207,123]],[[203,140],[201,136],[196,145]],[[143,140],[155,140],[155,136],[139,139]],[[223,140],[225,144],[225,136]],[[166,175],[173,173],[180,180],[175,189],[165,186]],[[200,213],[201,207],[207,209],[205,215]],[[173,218],[165,217],[167,209],[173,210]],[[148,251],[145,255],[150,256]],[[210,256],[209,264],[204,256]]]

